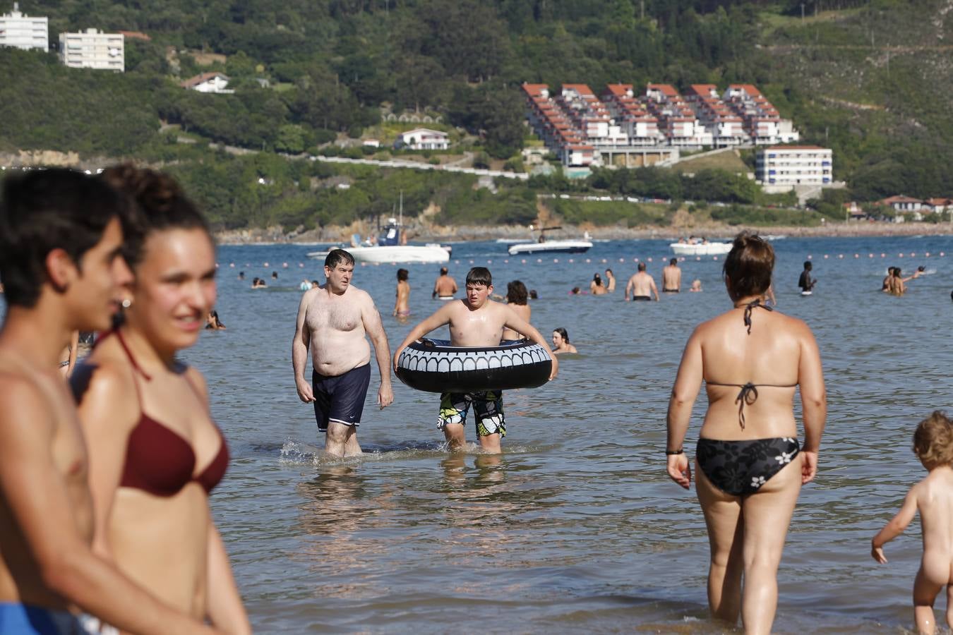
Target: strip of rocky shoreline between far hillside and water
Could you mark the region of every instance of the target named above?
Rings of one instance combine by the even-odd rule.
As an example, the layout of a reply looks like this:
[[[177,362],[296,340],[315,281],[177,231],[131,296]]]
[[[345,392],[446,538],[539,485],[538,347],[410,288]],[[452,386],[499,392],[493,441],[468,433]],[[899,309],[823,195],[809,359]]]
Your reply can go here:
[[[920,236],[953,235],[950,223],[883,223],[849,222],[826,223],[818,227],[793,226],[728,226],[723,224],[698,225],[691,227],[596,227],[591,224],[578,226],[564,225],[560,232],[564,237],[579,237],[586,231],[592,238],[600,240],[639,240],[671,239],[673,241],[687,236],[704,236],[709,239],[732,238],[742,229],[764,236],[786,236],[792,238],[846,238],[864,236]],[[350,243],[350,236],[358,233],[371,235],[376,228],[370,224],[355,223],[351,226],[328,226],[325,228],[294,230],[286,232],[284,228],[246,228],[215,232],[219,245],[332,245]],[[518,225],[501,226],[437,226],[411,221],[407,224],[407,234],[411,242],[469,242],[497,239],[532,238],[529,228]]]

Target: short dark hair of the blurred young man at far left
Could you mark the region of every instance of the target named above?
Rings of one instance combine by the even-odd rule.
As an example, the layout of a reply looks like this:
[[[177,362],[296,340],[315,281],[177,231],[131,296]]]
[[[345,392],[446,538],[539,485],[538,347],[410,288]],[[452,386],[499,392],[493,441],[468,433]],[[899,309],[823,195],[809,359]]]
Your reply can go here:
[[[50,281],[46,259],[63,249],[77,268],[128,200],[98,178],[71,169],[41,169],[7,177],[0,194],[0,282],[7,304],[31,308]],[[82,269],[80,269],[82,270]]]

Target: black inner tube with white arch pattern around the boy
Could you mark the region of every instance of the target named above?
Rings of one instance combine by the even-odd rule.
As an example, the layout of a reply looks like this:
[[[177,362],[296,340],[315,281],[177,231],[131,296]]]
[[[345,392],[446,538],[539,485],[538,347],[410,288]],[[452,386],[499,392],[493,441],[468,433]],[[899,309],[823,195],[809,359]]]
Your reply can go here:
[[[424,339],[400,352],[397,377],[428,392],[480,392],[535,388],[549,380],[553,359],[526,340],[498,347],[452,347],[447,340]]]

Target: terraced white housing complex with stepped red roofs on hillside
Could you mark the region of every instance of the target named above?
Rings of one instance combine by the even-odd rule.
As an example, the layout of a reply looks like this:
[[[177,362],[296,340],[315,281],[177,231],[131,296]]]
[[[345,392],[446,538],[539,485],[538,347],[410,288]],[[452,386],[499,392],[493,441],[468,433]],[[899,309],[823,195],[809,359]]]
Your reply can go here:
[[[679,149],[752,147],[798,141],[788,119],[750,84],[719,95],[694,84],[685,96],[668,84],[609,84],[601,97],[585,84],[523,84],[530,125],[564,166],[639,167],[678,159]]]

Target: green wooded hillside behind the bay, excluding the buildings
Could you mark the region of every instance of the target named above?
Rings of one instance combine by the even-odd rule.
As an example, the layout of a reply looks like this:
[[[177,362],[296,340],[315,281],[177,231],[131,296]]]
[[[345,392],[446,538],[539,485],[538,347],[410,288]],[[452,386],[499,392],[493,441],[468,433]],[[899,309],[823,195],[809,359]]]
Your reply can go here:
[[[595,190],[738,204],[710,208],[725,222],[733,222],[729,213],[781,220],[786,212],[766,206],[789,199],[765,197],[737,174],[743,164],[750,169],[747,152],[742,161],[726,153],[676,170],[596,170],[583,182],[537,176],[504,183],[497,194],[474,189],[464,175],[332,168],[275,154],[400,156],[329,144],[363,136],[389,146],[400,130],[427,126],[449,132],[454,151],[471,151],[477,165],[506,161],[519,170],[518,150],[537,145],[523,123],[524,81],[596,90],[617,81],[682,90],[743,82],[794,119],[803,143],[834,149],[835,177],[850,187],[843,196],[953,195],[953,173],[944,169],[953,162],[953,64],[944,48],[953,21],[943,2],[807,0],[803,19],[801,8],[800,0],[57,0],[30,8],[50,17],[53,41],[91,26],[140,30],[152,40],[127,39],[123,74],[66,69],[52,53],[0,50],[0,150],[164,166],[228,228],[346,224],[387,211],[400,189],[405,208],[436,204],[445,222],[525,222],[536,215],[537,193]],[[0,11],[10,9],[0,0]],[[226,72],[235,93],[180,88],[207,70]],[[440,123],[382,121],[405,112]],[[260,153],[236,157],[210,142]],[[335,178],[351,187],[322,185]],[[836,203],[825,195],[821,205]],[[670,215],[564,199],[556,208],[567,220],[594,223],[652,224]]]

